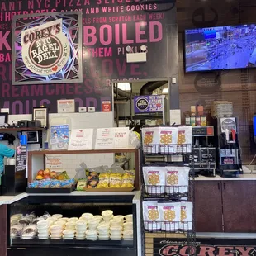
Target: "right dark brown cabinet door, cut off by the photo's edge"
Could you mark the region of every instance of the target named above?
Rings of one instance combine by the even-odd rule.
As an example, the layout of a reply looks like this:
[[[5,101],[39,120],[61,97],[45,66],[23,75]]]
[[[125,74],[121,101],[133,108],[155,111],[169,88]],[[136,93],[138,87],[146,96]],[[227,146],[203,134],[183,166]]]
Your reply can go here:
[[[225,232],[256,232],[256,181],[223,182]]]

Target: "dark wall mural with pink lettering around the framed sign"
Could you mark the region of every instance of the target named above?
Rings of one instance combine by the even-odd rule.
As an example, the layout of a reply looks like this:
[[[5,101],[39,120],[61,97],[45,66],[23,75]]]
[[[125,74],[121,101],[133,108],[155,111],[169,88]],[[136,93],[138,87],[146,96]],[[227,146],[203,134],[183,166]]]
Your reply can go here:
[[[83,13],[83,83],[12,85],[12,18],[35,13]],[[147,46],[147,62],[126,63]],[[0,108],[30,113],[44,105],[56,112],[57,99],[74,98],[78,107],[96,107],[111,100],[111,79],[165,78],[178,73],[178,33],[173,3],[139,0],[19,0],[0,2]],[[172,58],[170,58],[170,56]]]

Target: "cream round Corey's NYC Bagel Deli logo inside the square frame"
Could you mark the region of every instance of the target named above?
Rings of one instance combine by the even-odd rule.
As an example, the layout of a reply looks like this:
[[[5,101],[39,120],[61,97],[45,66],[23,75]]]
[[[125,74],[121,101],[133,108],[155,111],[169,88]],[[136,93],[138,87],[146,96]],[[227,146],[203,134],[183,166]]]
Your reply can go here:
[[[62,32],[62,19],[22,31],[21,46],[26,68],[41,76],[58,73],[69,60],[69,40]]]

